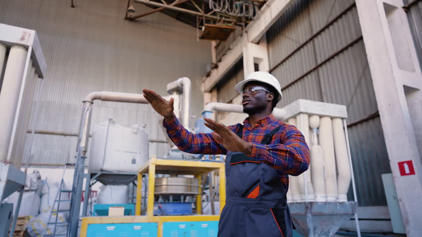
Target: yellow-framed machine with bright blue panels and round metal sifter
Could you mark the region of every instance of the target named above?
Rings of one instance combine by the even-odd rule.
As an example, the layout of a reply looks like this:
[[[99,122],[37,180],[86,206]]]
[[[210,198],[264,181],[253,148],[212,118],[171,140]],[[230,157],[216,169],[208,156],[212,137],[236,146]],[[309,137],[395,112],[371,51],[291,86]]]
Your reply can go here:
[[[130,233],[130,236],[145,237],[180,236],[183,233],[216,237],[219,215],[200,214],[202,188],[199,184],[202,175],[211,171],[219,173],[221,211],[225,201],[224,163],[153,157],[139,169],[136,216],[85,217],[80,236],[92,237],[99,233],[118,236],[124,232],[128,236]],[[144,177],[144,174],[148,175]],[[167,174],[169,177],[157,178],[157,174]],[[143,179],[148,179],[146,215],[141,215]],[[195,206],[194,212],[192,204]]]

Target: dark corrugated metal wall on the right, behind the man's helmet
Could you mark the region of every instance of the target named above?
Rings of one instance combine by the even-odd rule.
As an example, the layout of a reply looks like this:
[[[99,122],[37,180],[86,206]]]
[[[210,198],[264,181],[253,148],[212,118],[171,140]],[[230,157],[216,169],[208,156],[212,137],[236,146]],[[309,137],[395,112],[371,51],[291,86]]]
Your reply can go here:
[[[386,205],[381,174],[391,171],[354,1],[297,0],[267,40],[284,94],[277,107],[297,99],[346,105],[359,204]]]

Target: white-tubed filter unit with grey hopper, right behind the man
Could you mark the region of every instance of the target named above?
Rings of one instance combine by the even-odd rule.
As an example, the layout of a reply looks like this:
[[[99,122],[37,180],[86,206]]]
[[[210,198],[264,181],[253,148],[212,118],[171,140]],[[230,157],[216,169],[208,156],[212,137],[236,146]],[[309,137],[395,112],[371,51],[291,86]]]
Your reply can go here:
[[[301,99],[283,109],[285,121],[303,133],[311,150],[310,168],[290,176],[287,193],[297,232],[330,237],[354,217],[360,236],[346,106]],[[347,199],[350,184],[354,201]]]

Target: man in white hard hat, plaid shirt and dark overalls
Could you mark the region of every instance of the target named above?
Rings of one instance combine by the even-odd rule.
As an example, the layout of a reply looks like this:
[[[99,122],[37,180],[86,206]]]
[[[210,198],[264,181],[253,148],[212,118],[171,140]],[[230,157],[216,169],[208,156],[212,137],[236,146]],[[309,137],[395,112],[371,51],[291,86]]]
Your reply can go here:
[[[309,167],[309,148],[294,126],[272,115],[282,98],[278,80],[269,73],[254,72],[239,82],[243,124],[226,127],[205,118],[213,133],[193,134],[173,114],[173,99],[166,102],[144,89],[145,98],[164,117],[163,126],[174,144],[193,154],[223,154],[226,169],[226,204],[218,224],[218,237],[292,237],[292,221],[286,204],[288,175]]]

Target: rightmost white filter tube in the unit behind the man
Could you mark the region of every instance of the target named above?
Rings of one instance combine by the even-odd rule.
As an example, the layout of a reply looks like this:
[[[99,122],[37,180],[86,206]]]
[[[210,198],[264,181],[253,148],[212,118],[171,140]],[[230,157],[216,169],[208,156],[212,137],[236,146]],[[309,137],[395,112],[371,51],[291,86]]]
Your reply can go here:
[[[347,155],[346,137],[344,135],[343,122],[341,118],[333,118],[333,135],[335,161],[337,166],[337,197],[338,201],[347,201],[347,192],[349,191],[352,174],[350,173],[350,164]]]

